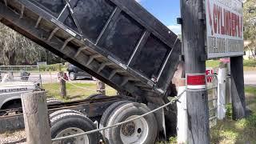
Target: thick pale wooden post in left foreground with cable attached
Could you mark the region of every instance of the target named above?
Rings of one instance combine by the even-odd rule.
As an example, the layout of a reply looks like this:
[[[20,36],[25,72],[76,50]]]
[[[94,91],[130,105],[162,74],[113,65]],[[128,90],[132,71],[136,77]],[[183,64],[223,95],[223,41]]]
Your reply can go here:
[[[50,122],[46,106],[46,93],[22,94],[22,110],[27,144],[50,144]]]

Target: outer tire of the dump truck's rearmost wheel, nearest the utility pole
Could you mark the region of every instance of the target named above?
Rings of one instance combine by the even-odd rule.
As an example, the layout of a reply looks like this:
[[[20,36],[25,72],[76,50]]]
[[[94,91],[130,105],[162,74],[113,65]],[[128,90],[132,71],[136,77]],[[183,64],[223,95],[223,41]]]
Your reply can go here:
[[[112,113],[110,114],[106,122],[106,126],[111,126],[118,122],[124,122],[126,121],[127,118],[134,117],[135,115],[137,116],[137,115],[146,114],[149,111],[150,109],[147,108],[147,106],[137,102],[129,102],[129,103],[122,104],[116,107],[112,111]],[[147,131],[147,133],[144,131],[144,129],[140,125],[135,124],[133,127],[134,129],[132,128],[129,130],[126,129],[127,127],[125,129],[122,129],[122,126],[124,126],[122,125],[122,126],[117,126],[117,127],[106,130],[105,137],[108,140],[108,142],[111,144],[121,144],[121,143],[127,143],[127,142],[122,142],[122,138],[121,138],[122,130],[130,134],[127,136],[127,138],[134,134],[137,134],[138,136],[139,134],[141,134],[141,136],[138,137],[138,138],[141,138],[143,136],[143,132],[145,132],[146,133],[145,139],[141,138],[140,140],[136,140],[136,141],[142,141],[140,142],[142,144],[153,144],[156,141],[157,134],[158,134],[158,124],[157,124],[156,118],[154,117],[154,114],[149,114],[143,118],[143,121],[146,122],[146,128],[148,130],[145,129],[145,131]],[[130,126],[130,125],[127,125],[127,126]],[[134,130],[134,131],[132,132],[131,130]]]

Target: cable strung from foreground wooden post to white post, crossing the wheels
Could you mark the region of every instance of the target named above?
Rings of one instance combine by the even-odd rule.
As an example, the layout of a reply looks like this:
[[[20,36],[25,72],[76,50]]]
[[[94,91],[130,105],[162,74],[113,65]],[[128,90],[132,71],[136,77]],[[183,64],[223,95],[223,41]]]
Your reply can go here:
[[[96,133],[96,132],[99,132],[99,131],[102,131],[102,130],[106,130],[106,129],[110,129],[112,127],[115,127],[115,126],[121,126],[125,123],[128,123],[128,122],[132,122],[138,118],[142,118],[142,117],[145,117],[146,115],[148,114],[152,114],[154,113],[155,111],[158,111],[158,110],[161,110],[162,108],[166,107],[166,106],[169,106],[171,104],[173,104],[174,102],[178,102],[178,99],[182,97],[182,94],[185,93],[186,90],[183,90],[181,94],[179,94],[177,97],[173,98],[170,102],[166,103],[165,105],[163,106],[160,106],[158,107],[157,109],[154,109],[154,110],[151,110],[150,112],[146,113],[146,114],[142,114],[136,118],[131,118],[127,121],[124,121],[124,122],[118,122],[112,126],[106,126],[106,127],[103,127],[101,129],[97,129],[97,130],[90,130],[90,131],[87,131],[87,132],[84,132],[84,133],[80,133],[80,134],[74,134],[74,135],[69,135],[69,136],[65,136],[65,137],[61,137],[61,138],[54,138],[52,139],[52,142],[56,142],[56,141],[60,141],[62,139],[66,139],[66,138],[74,138],[74,137],[78,137],[78,136],[82,136],[82,135],[86,135],[86,134],[93,134],[93,133]]]

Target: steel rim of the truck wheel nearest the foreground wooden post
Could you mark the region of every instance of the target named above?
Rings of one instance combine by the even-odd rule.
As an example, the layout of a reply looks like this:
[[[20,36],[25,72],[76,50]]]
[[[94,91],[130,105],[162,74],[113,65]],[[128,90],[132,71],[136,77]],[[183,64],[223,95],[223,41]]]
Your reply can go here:
[[[62,130],[60,133],[56,135],[55,138],[61,138],[65,137],[68,135],[73,135],[73,134],[80,134],[84,133],[85,131],[77,128],[77,127],[70,127],[65,130]],[[74,137],[74,138],[67,138],[63,139],[61,141],[54,142],[54,144],[89,144],[89,138],[87,135],[82,135],[79,137]]]

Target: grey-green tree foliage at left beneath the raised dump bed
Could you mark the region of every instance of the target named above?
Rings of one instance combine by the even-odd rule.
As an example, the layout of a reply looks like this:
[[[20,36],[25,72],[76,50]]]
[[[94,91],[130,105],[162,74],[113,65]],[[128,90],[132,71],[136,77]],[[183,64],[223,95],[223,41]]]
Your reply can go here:
[[[59,63],[61,58],[0,23],[0,65],[32,65],[36,62]]]

